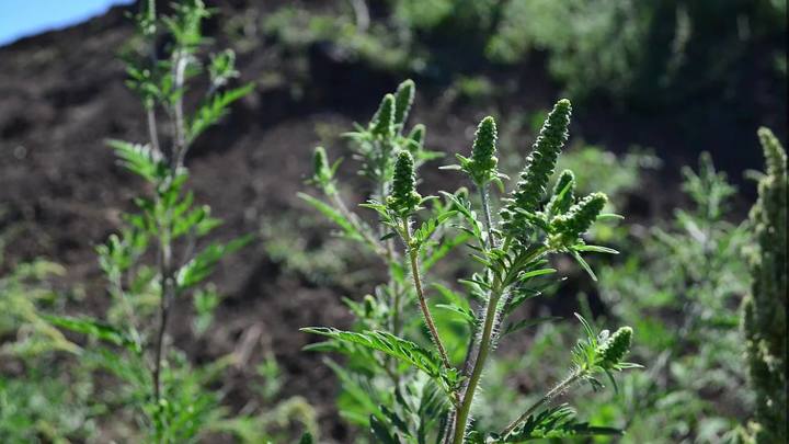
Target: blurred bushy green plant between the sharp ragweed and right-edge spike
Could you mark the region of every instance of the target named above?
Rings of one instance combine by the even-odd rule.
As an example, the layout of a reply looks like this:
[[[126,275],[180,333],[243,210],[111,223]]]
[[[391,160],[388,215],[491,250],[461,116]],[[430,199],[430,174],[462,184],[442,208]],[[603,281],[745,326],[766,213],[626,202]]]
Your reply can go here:
[[[622,225],[617,240],[629,253],[597,270],[606,309],[594,321],[632,326],[640,338],[632,358],[649,368],[619,378],[616,396],[578,402],[594,421],[628,430],[611,442],[728,442],[752,406],[742,361],[732,358],[744,351],[736,307],[748,285],[747,227],[732,223],[737,189],[709,153],[682,172],[688,206],[650,229]],[[519,364],[542,363],[529,375],[537,380],[553,374],[551,350],[572,338],[563,326],[542,327]]]

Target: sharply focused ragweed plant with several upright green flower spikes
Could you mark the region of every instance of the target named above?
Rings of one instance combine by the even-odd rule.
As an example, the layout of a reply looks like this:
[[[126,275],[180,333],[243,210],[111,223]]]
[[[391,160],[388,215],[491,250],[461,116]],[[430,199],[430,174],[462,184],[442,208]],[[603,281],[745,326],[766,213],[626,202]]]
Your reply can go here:
[[[404,132],[413,95],[413,82],[403,82],[395,94],[384,98],[366,127],[357,125],[356,132],[347,135],[361,161],[359,172],[371,185],[373,196],[362,207],[377,214],[377,227],[352,213],[341,198],[336,163],[330,163],[322,148],[316,149],[310,183],[327,200],[301,195],[332,219],[345,237],[378,254],[389,269],[389,282],[378,286],[375,295],[365,296],[361,303],[347,303],[356,316],[354,331],[302,329],[329,338],[309,349],[348,356],[345,368],[331,365],[343,383],[345,402],[361,405],[366,411],[357,408],[343,412],[368,426],[376,442],[385,443],[522,442],[617,433],[615,429],[579,421],[568,406],[551,406],[581,383],[601,388],[599,375],[613,382],[615,373],[636,366],[624,361],[632,338],[630,328],[598,333],[581,317],[584,339],[572,352],[572,366],[564,379],[522,414],[502,423],[499,431],[478,430],[472,421],[474,395],[499,340],[529,320],[502,326],[515,308],[536,295],[534,285],[538,278],[556,272],[547,265],[549,258],[570,254],[594,277],[582,253],[615,253],[587,244],[582,238],[597,219],[610,216],[602,213],[607,201],[604,194],[576,196],[569,171],[548,191],[568,138],[570,102],[561,100],[556,104],[515,190],[501,198],[496,210],[490,184],[503,185],[506,177],[496,170],[496,126],[492,117],[480,123],[470,156],[458,156],[460,164],[448,167],[470,178],[479,206],[472,204],[465,189],[441,192],[441,197],[419,193],[416,168],[436,153],[424,149],[423,126]],[[434,265],[464,243],[480,266],[460,281],[466,297],[427,282]],[[431,305],[431,289],[437,291],[447,304]],[[460,340],[451,338],[451,348],[434,316],[437,308],[456,315],[467,327]],[[421,331],[426,331],[426,341],[420,337]],[[375,352],[381,352],[384,357]]]

